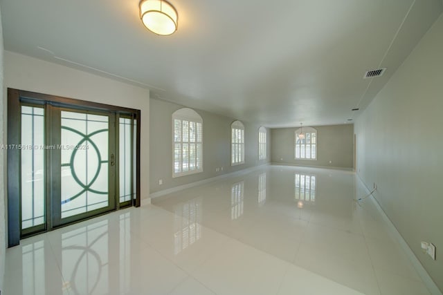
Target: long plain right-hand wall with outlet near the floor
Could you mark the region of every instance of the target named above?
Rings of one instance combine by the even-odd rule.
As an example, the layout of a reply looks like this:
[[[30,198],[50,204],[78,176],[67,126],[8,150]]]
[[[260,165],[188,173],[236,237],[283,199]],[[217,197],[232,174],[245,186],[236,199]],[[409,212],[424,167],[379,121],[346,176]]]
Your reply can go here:
[[[357,171],[443,291],[443,15],[356,121]],[[437,260],[420,249],[433,242]],[[382,242],[382,241],[381,241]],[[439,250],[440,249],[440,250]]]

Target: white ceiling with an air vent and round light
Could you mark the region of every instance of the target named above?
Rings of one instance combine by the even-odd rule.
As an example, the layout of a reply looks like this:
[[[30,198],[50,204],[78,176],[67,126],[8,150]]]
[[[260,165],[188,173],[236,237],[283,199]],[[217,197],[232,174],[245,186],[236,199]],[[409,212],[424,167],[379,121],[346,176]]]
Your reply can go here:
[[[170,0],[179,29],[160,37],[138,2],[0,0],[5,49],[264,126],[343,124],[443,10],[441,0]]]

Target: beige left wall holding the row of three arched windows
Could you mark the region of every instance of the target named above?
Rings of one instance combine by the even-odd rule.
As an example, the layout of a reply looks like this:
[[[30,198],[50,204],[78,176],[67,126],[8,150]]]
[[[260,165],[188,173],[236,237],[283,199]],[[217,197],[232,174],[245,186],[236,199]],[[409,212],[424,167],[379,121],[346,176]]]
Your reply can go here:
[[[258,129],[260,124],[243,122],[246,149],[245,164],[230,166],[230,124],[235,119],[194,109],[203,118],[203,172],[172,178],[172,113],[179,108],[183,108],[183,106],[159,99],[151,99],[151,193],[269,162],[271,136],[269,130],[267,133],[267,160],[259,161]],[[217,167],[223,167],[223,171],[216,172]],[[159,185],[159,180],[163,180],[162,185]]]

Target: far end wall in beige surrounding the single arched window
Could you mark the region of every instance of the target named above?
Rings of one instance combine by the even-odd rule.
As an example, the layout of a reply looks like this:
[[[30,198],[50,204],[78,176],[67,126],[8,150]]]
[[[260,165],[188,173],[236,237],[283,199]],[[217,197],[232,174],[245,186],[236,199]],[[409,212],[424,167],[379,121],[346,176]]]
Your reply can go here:
[[[317,160],[294,159],[295,131],[299,127],[271,129],[271,161],[273,164],[352,169],[354,162],[354,125],[313,127],[317,131]]]

